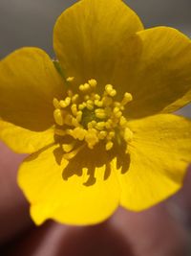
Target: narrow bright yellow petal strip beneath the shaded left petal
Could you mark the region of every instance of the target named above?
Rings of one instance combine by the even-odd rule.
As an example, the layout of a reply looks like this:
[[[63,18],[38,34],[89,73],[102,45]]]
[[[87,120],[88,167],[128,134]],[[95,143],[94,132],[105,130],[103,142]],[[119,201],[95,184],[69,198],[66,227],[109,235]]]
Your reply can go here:
[[[32,131],[0,120],[0,140],[17,153],[32,153],[53,144],[53,128]]]

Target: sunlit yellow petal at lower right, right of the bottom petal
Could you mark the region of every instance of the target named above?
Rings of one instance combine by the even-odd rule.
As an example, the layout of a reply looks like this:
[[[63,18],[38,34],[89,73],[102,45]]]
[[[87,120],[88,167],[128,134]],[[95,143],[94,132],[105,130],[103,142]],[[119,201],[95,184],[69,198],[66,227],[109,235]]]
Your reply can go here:
[[[191,121],[160,114],[129,123],[130,167],[118,176],[120,203],[140,211],[176,193],[191,162]]]

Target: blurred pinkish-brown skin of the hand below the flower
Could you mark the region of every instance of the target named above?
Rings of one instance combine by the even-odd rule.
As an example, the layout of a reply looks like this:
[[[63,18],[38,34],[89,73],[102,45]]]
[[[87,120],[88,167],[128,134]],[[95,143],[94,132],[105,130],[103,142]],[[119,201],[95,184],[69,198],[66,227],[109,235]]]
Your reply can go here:
[[[24,157],[0,144],[1,255],[189,255],[191,172],[180,193],[144,212],[118,209],[110,220],[95,226],[47,221],[36,227],[29,216],[29,205],[16,185],[17,168]]]

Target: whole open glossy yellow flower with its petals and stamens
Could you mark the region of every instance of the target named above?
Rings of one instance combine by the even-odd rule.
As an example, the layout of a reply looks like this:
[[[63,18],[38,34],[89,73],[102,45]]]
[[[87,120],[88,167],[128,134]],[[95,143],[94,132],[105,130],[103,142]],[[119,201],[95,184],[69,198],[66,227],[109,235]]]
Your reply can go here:
[[[191,162],[191,42],[143,30],[120,0],[81,0],[58,18],[58,60],[36,48],[0,62],[0,138],[32,153],[18,183],[37,224],[89,224],[177,192]]]

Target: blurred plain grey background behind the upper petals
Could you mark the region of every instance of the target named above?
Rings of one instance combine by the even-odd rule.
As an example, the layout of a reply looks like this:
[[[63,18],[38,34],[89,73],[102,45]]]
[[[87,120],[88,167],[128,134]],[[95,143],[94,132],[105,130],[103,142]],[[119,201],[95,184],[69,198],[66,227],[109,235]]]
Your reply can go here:
[[[36,46],[53,57],[53,25],[74,0],[0,0],[0,58],[22,46]],[[190,0],[126,0],[145,28],[171,26],[191,35]],[[191,106],[180,113],[191,116]]]

